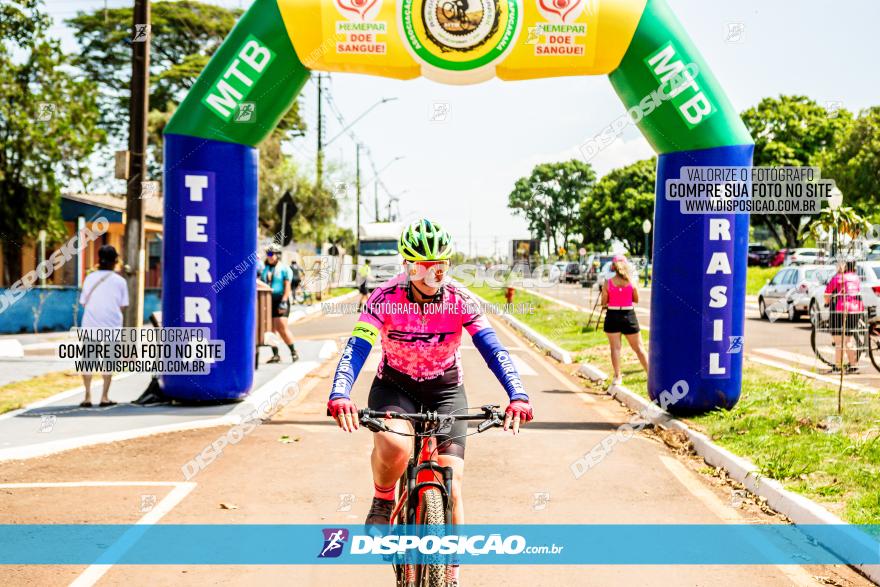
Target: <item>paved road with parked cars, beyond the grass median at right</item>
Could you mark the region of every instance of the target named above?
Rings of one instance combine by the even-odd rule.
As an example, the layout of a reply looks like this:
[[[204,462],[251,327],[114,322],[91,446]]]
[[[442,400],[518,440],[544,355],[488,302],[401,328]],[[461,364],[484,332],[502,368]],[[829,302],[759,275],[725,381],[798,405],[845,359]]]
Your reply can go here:
[[[592,308],[597,295],[597,290],[585,289],[577,284],[554,284],[550,287],[534,288],[534,291],[587,308]],[[637,310],[643,327],[650,324],[650,310],[650,293],[643,290]],[[828,367],[816,358],[810,347],[810,322],[806,318],[789,322],[780,315],[773,321],[761,320],[758,317],[757,300],[751,299],[746,302],[745,333],[746,352],[757,360],[814,373],[829,372]],[[873,390],[880,390],[880,372],[874,369],[867,356],[862,357],[859,367],[860,372],[847,375],[847,380]]]

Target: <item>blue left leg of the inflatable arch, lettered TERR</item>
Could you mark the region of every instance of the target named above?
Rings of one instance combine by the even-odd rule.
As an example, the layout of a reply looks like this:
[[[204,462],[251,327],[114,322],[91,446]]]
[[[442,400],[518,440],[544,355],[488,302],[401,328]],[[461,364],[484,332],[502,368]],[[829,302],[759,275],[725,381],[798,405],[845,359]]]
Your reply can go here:
[[[225,343],[225,359],[208,375],[164,375],[163,392],[196,402],[247,395],[254,377],[257,150],[165,135],[163,238],[162,325],[207,327]]]

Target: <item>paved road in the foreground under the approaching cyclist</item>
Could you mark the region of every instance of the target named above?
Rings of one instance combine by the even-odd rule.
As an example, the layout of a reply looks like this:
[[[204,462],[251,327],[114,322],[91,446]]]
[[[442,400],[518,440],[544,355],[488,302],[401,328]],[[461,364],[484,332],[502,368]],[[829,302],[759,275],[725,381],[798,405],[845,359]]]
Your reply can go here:
[[[324,317],[294,326],[301,339],[347,337],[354,316]],[[494,320],[493,320],[494,321]],[[570,465],[630,418],[605,395],[580,383],[530,350],[494,321],[529,389],[537,421],[517,437],[493,430],[468,440],[465,499],[470,523],[767,523],[778,521],[753,504],[732,505],[731,489],[699,473],[702,463],[673,454],[656,436],[637,435],[576,479]],[[502,403],[503,392],[479,353],[462,347],[471,405]],[[370,356],[353,398],[363,405],[378,364]],[[334,361],[302,385],[302,393],[194,479],[197,483],[162,523],[360,523],[372,493],[370,434],[346,434],[325,416]],[[91,447],[44,459],[9,463],[0,482],[33,480],[180,481],[181,465],[224,433],[198,430]],[[288,441],[280,442],[283,437]],[[120,467],[120,463],[125,463]],[[42,492],[42,493],[41,493]],[[2,490],[0,522],[71,518],[125,521],[144,493],[156,489]],[[159,496],[160,499],[162,496]],[[65,502],[65,500],[67,500]],[[100,500],[102,508],[90,504]],[[226,504],[221,508],[220,504]],[[82,506],[80,507],[80,504]],[[232,507],[230,507],[232,504]],[[42,512],[54,517],[42,519]],[[83,567],[31,567],[8,571],[6,584],[67,584]],[[95,571],[90,571],[94,573]],[[840,567],[485,567],[463,569],[465,585],[840,585],[867,583]],[[100,585],[390,585],[384,566],[361,567],[113,567]],[[92,584],[92,583],[86,583]],[[834,584],[834,583],[832,583]]]

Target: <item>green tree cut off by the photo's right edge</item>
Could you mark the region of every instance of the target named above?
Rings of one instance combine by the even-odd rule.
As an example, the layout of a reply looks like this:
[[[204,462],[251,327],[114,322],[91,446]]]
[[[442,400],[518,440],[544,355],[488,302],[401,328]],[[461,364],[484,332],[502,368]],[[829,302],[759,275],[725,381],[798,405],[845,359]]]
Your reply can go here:
[[[880,106],[862,111],[828,153],[823,175],[859,213],[880,221]]]

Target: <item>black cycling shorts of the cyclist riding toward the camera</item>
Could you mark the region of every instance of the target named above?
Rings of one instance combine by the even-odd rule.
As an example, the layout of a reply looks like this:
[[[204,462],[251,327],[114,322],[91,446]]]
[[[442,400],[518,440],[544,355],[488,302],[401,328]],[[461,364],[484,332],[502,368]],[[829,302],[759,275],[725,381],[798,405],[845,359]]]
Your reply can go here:
[[[422,409],[441,414],[468,413],[464,385],[458,385],[458,369],[454,366],[436,379],[416,381],[385,364],[382,379],[373,379],[367,406],[380,412],[415,413]],[[447,424],[437,434],[438,454],[464,458],[466,434],[467,422]]]

